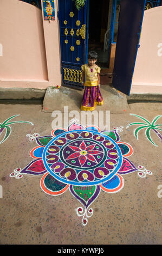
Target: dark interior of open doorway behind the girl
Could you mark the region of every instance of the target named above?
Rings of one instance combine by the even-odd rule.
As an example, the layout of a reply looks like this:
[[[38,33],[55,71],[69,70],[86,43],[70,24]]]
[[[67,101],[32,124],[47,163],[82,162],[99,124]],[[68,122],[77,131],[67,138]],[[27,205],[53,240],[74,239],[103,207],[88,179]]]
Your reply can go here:
[[[104,52],[104,38],[108,24],[109,0],[89,0],[88,51],[98,53],[98,65],[107,68],[108,52]]]

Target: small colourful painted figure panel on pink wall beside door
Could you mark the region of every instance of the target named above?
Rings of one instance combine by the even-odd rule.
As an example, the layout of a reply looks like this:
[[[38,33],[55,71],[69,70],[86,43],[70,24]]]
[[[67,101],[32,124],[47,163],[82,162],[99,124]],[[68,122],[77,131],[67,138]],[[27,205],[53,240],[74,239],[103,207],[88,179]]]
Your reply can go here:
[[[54,0],[43,0],[44,20],[55,20]]]

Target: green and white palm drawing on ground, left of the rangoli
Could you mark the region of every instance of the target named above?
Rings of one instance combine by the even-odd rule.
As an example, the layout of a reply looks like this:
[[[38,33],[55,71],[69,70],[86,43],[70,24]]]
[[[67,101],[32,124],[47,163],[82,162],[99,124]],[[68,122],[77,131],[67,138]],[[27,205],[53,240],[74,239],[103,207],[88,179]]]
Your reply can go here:
[[[17,116],[18,115],[12,115],[12,117],[10,117],[7,120],[5,120],[2,124],[0,123],[0,135],[2,134],[4,129],[6,130],[5,136],[2,139],[2,141],[0,141],[0,144],[2,144],[11,134],[11,127],[9,125],[17,124],[17,123],[28,123],[28,124],[34,125],[33,123],[28,122],[28,121],[15,121],[15,122],[8,123],[9,120],[11,120],[12,118],[17,117]]]

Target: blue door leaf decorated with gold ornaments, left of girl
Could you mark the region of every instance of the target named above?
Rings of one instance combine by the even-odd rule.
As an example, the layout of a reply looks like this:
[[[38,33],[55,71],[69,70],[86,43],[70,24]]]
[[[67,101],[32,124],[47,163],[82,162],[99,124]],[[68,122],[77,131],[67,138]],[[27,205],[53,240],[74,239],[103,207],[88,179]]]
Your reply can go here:
[[[82,89],[81,65],[87,62],[87,2],[79,10],[75,1],[59,0],[62,85]]]

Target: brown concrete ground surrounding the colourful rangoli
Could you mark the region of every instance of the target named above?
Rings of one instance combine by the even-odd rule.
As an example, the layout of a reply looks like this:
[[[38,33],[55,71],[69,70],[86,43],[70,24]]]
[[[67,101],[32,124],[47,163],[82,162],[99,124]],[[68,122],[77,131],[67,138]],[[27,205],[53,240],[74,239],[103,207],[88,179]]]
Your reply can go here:
[[[64,102],[64,105],[68,106],[68,102]],[[53,110],[59,110],[59,107],[56,102]],[[109,110],[109,107],[104,106],[104,109]],[[99,109],[102,110],[102,107],[96,107],[97,111]],[[79,111],[79,106],[75,106],[73,110]],[[12,121],[30,121],[34,124],[10,125],[10,136],[0,144],[0,185],[3,188],[3,197],[0,198],[1,245],[161,244],[161,141],[151,131],[151,138],[158,146],[155,147],[146,138],[144,130],[139,131],[137,140],[133,135],[137,126],[128,129],[126,126],[139,121],[130,113],[141,115],[150,122],[157,115],[162,115],[162,103],[133,103],[125,110],[120,109],[120,113],[111,111],[110,128],[124,127],[120,132],[121,141],[131,144],[134,150],[129,160],[136,167],[144,166],[152,175],[146,174],[145,178],[140,178],[138,172],[123,175],[124,187],[121,191],[101,191],[91,205],[94,213],[84,227],[82,218],[75,211],[81,204],[69,191],[53,197],[41,190],[41,175],[24,174],[22,179],[9,176],[14,169],[23,169],[33,160],[29,153],[37,144],[29,141],[26,135],[50,135],[54,120],[51,112],[44,112],[42,105],[0,105],[0,123],[18,114]],[[157,123],[162,124],[162,118]],[[2,141],[3,132],[0,138]]]

